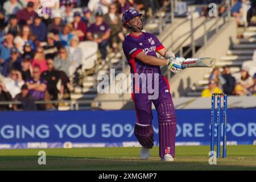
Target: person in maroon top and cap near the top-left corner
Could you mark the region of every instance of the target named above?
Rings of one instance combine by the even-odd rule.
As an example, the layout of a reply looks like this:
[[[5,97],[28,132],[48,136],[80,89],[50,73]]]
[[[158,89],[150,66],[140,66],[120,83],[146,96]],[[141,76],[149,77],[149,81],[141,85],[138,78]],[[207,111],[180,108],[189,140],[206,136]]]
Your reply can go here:
[[[27,7],[25,9],[19,10],[17,13],[19,24],[32,24],[35,15],[36,13],[34,11],[34,2],[30,1],[27,3]]]

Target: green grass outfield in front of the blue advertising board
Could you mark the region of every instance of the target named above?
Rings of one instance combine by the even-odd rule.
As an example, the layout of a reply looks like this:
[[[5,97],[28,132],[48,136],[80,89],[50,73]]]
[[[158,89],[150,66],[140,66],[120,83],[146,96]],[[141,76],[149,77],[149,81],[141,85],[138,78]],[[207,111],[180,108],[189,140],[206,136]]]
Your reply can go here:
[[[38,152],[46,152],[46,165]],[[256,146],[228,146],[226,159],[209,165],[209,146],[177,146],[174,162],[161,162],[158,147],[149,160],[139,147],[0,150],[0,170],[256,170]]]

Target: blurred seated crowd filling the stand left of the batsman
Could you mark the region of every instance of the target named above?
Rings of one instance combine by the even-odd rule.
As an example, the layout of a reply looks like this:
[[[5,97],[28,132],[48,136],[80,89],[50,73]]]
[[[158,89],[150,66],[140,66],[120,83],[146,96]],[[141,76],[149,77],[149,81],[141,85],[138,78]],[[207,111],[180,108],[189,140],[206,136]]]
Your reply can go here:
[[[14,110],[46,110],[35,101],[72,93],[81,68],[82,41],[98,44],[101,64],[125,38],[122,13],[151,16],[165,0],[7,0],[0,2],[0,101],[22,101]],[[70,98],[70,94],[67,98]],[[0,105],[0,110],[9,110]]]

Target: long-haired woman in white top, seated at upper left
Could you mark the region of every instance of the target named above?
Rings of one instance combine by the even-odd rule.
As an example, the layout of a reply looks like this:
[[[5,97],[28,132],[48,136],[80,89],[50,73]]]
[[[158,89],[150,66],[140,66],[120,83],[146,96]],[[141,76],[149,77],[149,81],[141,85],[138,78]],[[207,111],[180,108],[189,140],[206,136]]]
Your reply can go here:
[[[19,49],[20,53],[24,53],[23,47],[26,42],[30,42],[32,49],[35,49],[35,44],[32,41],[32,33],[30,27],[24,25],[20,34],[14,38],[15,47]]]

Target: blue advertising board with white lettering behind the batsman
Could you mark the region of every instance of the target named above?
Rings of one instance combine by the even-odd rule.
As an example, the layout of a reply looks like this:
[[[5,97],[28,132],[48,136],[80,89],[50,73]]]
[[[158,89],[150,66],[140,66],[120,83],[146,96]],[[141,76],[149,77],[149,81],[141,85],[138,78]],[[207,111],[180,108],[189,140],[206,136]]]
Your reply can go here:
[[[2,111],[0,148],[139,146],[134,110]],[[176,145],[209,145],[210,110],[176,110]],[[256,110],[229,109],[228,144],[256,143]],[[155,144],[158,119],[153,110]],[[215,131],[216,133],[216,131]]]

